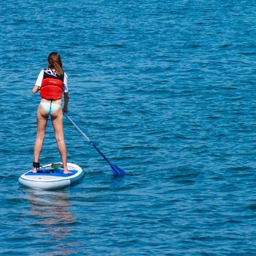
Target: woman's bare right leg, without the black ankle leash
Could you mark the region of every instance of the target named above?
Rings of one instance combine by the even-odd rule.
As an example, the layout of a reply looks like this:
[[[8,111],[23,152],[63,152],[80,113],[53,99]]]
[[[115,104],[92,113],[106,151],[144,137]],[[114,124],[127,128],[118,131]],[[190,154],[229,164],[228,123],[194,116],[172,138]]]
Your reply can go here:
[[[64,141],[63,133],[63,113],[62,108],[59,108],[51,114],[52,124],[55,131],[55,138],[58,144],[59,154],[63,164],[64,174],[72,173],[67,169],[67,149]]]

